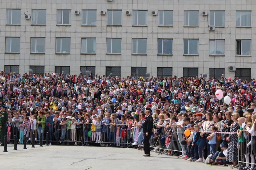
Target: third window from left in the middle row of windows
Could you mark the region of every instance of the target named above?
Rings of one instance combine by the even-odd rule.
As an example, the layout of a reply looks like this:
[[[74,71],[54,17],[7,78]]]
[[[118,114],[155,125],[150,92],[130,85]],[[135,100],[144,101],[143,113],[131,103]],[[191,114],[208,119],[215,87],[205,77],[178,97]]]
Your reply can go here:
[[[70,53],[70,38],[56,38],[56,53]]]

